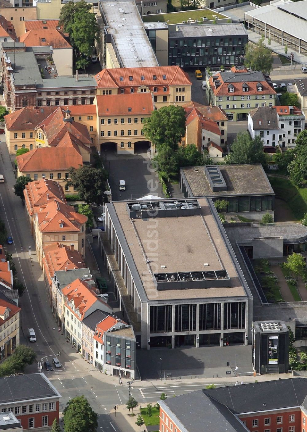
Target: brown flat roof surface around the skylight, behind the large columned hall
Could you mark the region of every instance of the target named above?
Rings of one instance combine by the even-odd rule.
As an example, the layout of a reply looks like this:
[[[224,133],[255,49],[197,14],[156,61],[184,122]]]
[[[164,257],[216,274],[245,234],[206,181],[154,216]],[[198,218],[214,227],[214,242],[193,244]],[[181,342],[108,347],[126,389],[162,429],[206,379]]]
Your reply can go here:
[[[181,168],[182,177],[194,197],[274,195],[262,165],[220,165],[227,191],[213,192],[203,166]]]

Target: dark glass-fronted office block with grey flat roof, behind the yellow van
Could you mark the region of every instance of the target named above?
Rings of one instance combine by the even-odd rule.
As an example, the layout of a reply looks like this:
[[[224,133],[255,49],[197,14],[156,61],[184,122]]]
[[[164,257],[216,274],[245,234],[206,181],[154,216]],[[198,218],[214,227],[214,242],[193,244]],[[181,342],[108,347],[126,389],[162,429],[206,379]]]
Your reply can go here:
[[[242,23],[177,25],[169,32],[169,65],[220,69],[239,65],[247,44]]]

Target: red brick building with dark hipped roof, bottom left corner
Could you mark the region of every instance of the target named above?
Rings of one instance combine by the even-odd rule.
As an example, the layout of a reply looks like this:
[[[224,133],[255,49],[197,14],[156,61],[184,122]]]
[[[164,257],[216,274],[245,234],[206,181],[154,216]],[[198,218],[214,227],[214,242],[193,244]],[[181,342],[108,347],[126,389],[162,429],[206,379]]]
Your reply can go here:
[[[12,412],[24,431],[48,431],[59,420],[61,395],[43,373],[0,378],[0,389],[1,413]]]

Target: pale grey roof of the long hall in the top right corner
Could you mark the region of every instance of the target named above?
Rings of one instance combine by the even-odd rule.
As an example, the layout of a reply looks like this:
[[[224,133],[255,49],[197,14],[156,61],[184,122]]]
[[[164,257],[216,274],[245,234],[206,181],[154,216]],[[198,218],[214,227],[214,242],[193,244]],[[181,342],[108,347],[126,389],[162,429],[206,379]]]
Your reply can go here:
[[[298,2],[298,6],[302,7],[301,2]],[[245,13],[245,17],[257,19],[280,32],[288,33],[294,38],[307,42],[307,21],[278,9],[274,4],[248,11]]]

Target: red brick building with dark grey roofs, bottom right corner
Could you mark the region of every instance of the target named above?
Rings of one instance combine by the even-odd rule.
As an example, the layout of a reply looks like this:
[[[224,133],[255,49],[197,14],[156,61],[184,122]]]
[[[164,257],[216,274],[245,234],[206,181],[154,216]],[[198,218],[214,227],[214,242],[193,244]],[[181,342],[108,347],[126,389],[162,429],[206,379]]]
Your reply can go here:
[[[306,432],[306,384],[290,378],[159,401],[160,432]]]

